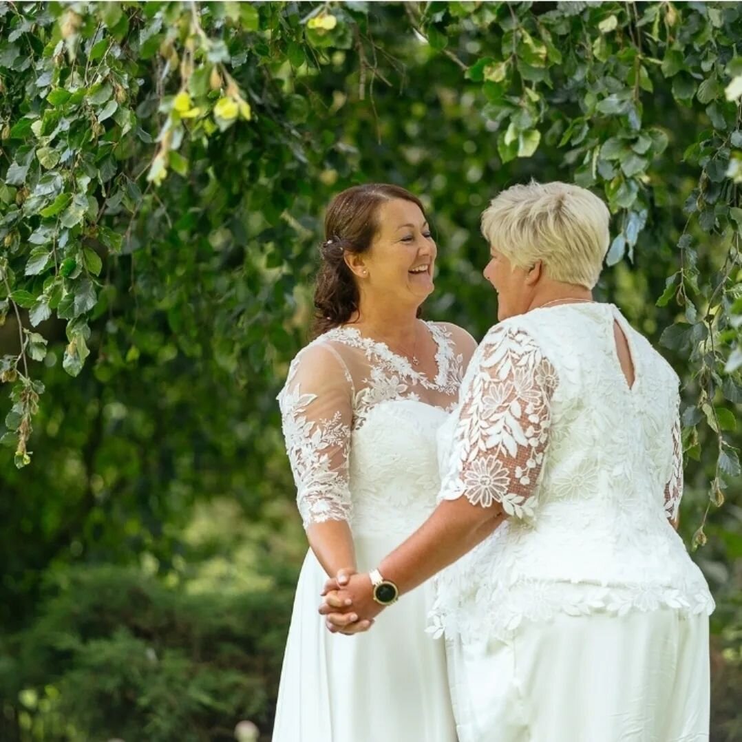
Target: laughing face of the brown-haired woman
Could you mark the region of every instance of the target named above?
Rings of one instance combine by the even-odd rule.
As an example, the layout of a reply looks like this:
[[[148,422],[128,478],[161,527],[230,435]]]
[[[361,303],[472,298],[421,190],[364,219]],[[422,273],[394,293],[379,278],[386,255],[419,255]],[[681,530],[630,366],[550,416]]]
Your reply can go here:
[[[436,243],[413,202],[386,201],[378,209],[378,231],[364,253],[361,287],[389,301],[421,304],[433,292]]]

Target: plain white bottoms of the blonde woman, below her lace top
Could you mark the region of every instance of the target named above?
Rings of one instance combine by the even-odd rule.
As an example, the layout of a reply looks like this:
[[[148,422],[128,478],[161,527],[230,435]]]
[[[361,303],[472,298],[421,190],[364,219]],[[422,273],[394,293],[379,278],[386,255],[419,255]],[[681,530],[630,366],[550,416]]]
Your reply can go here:
[[[709,739],[709,619],[670,609],[447,640],[460,742]]]

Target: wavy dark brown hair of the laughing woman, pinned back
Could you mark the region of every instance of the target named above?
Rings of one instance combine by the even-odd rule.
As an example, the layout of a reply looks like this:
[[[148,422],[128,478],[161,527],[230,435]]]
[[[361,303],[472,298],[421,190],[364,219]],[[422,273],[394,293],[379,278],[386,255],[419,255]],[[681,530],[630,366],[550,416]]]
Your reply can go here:
[[[353,185],[332,199],[325,215],[322,263],[315,287],[315,322],[312,337],[345,324],[358,310],[358,285],[345,263],[346,252],[366,252],[378,232],[378,208],[386,201],[403,199],[425,209],[410,191],[399,185]]]

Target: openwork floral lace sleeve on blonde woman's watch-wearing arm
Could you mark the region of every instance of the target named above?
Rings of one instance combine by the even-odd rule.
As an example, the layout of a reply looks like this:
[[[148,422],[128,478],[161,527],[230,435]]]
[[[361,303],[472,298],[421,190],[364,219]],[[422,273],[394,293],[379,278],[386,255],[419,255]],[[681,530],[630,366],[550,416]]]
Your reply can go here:
[[[472,363],[440,499],[465,496],[531,517],[557,372],[533,338],[513,327],[491,330]]]

